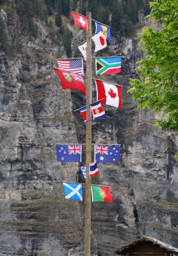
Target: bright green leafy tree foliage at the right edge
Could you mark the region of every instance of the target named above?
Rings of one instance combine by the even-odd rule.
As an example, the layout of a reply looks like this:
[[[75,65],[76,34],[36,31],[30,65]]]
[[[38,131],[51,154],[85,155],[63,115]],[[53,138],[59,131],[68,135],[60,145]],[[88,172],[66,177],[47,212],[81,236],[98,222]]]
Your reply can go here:
[[[155,124],[178,131],[178,1],[154,0],[150,3],[150,18],[162,23],[162,29],[153,27],[142,29],[139,45],[144,58],[137,62],[141,79],[131,79],[133,100],[138,100],[138,108],[163,110],[165,119]]]

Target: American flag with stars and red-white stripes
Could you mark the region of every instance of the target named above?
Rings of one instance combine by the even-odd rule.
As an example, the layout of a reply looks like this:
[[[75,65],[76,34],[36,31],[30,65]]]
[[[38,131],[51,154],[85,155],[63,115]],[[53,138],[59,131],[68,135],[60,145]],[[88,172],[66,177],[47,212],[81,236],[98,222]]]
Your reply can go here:
[[[57,60],[58,68],[79,75],[83,74],[83,59],[80,60]]]

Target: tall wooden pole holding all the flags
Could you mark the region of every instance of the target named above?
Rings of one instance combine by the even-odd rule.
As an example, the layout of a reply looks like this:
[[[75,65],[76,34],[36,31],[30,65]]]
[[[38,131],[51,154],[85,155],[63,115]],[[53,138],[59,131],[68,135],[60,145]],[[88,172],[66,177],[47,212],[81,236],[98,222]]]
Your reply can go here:
[[[85,186],[85,256],[90,256],[91,230],[91,178],[89,177],[89,163],[91,163],[91,12],[87,12],[87,80],[86,80],[86,186]]]

